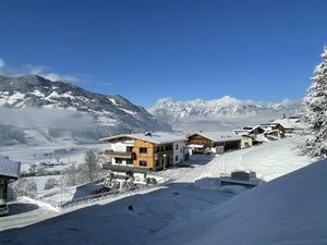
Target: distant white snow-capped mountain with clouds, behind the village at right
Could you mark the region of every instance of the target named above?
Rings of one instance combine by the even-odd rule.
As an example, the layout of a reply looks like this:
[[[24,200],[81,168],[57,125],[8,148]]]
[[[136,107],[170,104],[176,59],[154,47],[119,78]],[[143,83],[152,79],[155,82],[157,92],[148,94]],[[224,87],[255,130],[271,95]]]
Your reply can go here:
[[[299,102],[264,103],[253,100],[239,100],[229,96],[213,100],[174,101],[171,98],[158,100],[148,109],[159,120],[171,123],[174,128],[233,127],[245,121],[250,124],[292,115],[301,110]]]

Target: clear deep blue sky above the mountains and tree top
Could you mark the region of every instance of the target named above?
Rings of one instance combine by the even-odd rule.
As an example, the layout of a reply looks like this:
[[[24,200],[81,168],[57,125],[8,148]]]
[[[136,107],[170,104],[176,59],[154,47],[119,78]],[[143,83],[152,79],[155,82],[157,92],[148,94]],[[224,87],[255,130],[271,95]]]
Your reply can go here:
[[[41,74],[150,107],[159,98],[298,100],[327,1],[0,0],[0,73]]]

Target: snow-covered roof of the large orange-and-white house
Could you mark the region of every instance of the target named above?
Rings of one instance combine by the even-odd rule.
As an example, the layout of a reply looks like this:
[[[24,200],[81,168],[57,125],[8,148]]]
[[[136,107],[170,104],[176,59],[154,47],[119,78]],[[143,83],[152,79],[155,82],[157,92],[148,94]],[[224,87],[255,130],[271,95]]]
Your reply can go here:
[[[184,142],[186,140],[185,136],[177,133],[152,133],[150,135],[146,134],[120,134],[116,136],[110,136],[106,138],[101,138],[100,142],[111,142],[119,138],[133,138],[133,139],[141,139],[144,142],[149,142],[154,144],[169,144],[174,142]]]

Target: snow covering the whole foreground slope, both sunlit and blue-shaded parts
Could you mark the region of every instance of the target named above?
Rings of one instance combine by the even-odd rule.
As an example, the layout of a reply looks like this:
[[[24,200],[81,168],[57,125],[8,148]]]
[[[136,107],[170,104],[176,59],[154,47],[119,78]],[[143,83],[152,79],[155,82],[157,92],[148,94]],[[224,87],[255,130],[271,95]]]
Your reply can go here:
[[[296,155],[298,140],[214,158],[194,155],[181,167],[156,172],[170,181],[152,189],[60,213],[43,207],[31,212],[35,217],[0,218],[0,244],[326,244],[327,162],[281,176],[311,163]],[[220,173],[234,169],[272,181],[251,191],[219,188]]]

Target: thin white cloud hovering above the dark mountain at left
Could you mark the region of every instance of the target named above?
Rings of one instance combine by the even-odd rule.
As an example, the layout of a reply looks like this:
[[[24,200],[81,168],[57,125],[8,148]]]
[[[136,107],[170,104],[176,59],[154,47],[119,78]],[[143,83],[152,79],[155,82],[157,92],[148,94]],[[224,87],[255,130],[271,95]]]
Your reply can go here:
[[[5,62],[0,58],[0,75],[21,76],[21,75],[39,75],[52,82],[77,83],[82,78],[70,74],[59,74],[51,71],[49,66],[39,64],[25,64],[22,68],[5,68]]]

